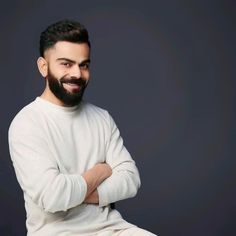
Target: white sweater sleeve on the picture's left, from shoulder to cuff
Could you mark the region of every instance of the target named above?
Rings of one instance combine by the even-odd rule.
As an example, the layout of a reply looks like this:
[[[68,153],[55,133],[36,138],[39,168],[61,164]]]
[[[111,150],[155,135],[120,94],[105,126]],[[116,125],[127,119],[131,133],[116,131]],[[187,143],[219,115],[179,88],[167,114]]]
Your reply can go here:
[[[81,175],[59,172],[40,127],[17,119],[9,129],[10,155],[18,182],[34,203],[47,212],[66,211],[84,201]]]

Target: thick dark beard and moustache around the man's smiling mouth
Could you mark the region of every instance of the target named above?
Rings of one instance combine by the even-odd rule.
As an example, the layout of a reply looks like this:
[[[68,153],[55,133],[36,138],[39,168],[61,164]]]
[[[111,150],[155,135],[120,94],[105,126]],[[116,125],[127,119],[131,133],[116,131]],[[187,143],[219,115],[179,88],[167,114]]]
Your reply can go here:
[[[66,106],[75,106],[80,104],[83,98],[84,91],[87,87],[87,81],[83,78],[75,78],[63,76],[62,78],[56,78],[49,70],[46,77],[51,92]],[[74,84],[79,86],[79,89],[68,91],[63,87],[63,84]]]

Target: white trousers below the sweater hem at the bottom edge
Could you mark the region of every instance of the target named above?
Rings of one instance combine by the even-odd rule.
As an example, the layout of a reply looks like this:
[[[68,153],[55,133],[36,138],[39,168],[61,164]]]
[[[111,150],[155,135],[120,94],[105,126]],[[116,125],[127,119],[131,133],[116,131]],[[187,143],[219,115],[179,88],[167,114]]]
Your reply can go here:
[[[122,230],[107,230],[96,234],[96,236],[156,236],[156,234],[138,227],[132,227]]]

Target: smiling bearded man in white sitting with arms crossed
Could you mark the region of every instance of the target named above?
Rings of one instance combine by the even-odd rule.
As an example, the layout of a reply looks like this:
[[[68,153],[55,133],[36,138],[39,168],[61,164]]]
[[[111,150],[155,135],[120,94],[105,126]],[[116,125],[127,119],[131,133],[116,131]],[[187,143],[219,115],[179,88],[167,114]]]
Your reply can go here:
[[[82,100],[90,77],[87,30],[69,20],[50,25],[37,64],[45,90],[9,128],[28,235],[153,235],[111,207],[135,196],[140,179],[109,113]]]

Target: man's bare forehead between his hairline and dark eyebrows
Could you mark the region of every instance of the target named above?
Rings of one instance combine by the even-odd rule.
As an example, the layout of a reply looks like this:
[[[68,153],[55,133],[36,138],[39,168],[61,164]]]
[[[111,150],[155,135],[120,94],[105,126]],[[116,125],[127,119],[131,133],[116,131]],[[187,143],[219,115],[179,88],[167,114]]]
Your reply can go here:
[[[78,61],[78,63],[89,59],[89,56],[90,48],[87,43],[71,43],[60,41],[45,52],[45,57],[48,60],[67,58]]]

